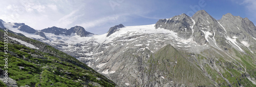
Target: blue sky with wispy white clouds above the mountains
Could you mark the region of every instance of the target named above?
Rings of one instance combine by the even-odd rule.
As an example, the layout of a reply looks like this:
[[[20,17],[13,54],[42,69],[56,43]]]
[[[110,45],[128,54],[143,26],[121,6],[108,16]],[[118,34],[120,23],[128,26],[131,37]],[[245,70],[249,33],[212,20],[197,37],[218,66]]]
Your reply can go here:
[[[120,23],[155,24],[182,13],[193,16],[198,10],[217,20],[231,13],[256,23],[255,0],[1,0],[0,8],[5,22],[25,23],[35,30],[79,25],[98,35]]]

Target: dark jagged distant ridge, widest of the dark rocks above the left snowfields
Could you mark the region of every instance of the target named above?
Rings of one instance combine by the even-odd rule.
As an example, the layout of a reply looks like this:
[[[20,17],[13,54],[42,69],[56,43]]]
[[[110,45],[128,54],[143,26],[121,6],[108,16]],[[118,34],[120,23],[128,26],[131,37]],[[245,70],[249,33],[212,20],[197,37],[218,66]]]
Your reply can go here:
[[[66,35],[66,36],[70,36],[72,33],[75,33],[80,37],[87,37],[89,35],[94,35],[84,30],[82,26],[74,26],[74,27],[71,27],[69,30],[67,30],[66,28],[63,29],[63,28],[53,26],[53,27],[45,28],[44,30],[41,30],[41,32],[52,33],[54,35]]]

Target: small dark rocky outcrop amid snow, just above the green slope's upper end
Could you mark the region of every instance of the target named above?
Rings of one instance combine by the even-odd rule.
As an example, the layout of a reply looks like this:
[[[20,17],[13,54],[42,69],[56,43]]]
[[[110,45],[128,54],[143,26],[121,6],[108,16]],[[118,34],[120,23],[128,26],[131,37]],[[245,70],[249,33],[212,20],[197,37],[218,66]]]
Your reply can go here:
[[[14,23],[12,27],[18,28],[19,31],[23,31],[26,33],[34,34],[36,30],[34,28],[31,28],[30,26],[26,25],[25,23]]]

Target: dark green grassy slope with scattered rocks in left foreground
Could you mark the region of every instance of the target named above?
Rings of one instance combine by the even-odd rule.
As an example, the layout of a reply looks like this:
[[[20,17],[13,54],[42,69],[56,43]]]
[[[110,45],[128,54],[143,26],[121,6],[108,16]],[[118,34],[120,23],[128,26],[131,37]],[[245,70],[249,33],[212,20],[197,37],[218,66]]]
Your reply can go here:
[[[4,68],[4,31],[0,30],[0,67]],[[40,49],[32,49],[9,39],[8,74],[18,86],[115,86],[116,84],[45,43],[9,33],[8,36],[31,43]],[[0,86],[5,86],[1,81]]]

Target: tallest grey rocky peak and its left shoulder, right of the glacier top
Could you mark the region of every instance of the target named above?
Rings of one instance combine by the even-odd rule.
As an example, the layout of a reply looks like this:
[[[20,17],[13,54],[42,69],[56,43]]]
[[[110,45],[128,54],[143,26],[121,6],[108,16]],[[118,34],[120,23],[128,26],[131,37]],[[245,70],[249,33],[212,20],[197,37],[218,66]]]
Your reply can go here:
[[[200,45],[209,43],[205,37],[214,40],[214,35],[223,37],[225,34],[225,30],[219,22],[204,10],[196,12],[192,17],[181,14],[169,19],[160,19],[155,27],[173,31],[178,34],[178,37],[185,40],[191,38]],[[206,32],[209,32],[209,35],[205,35]]]

